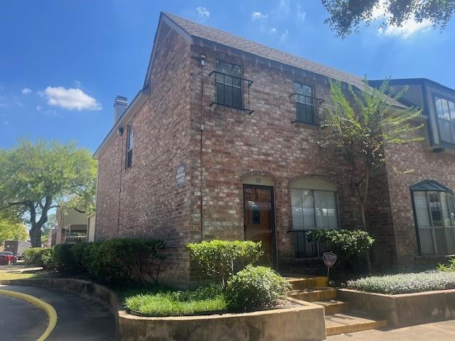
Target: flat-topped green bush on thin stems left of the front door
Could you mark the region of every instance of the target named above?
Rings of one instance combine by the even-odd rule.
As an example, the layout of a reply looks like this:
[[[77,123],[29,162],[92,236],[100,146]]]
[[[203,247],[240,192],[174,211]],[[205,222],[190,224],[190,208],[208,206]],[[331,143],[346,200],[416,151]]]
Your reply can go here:
[[[260,242],[212,240],[187,245],[191,259],[197,261],[205,274],[217,276],[224,289],[232,274],[256,263],[262,256]]]

